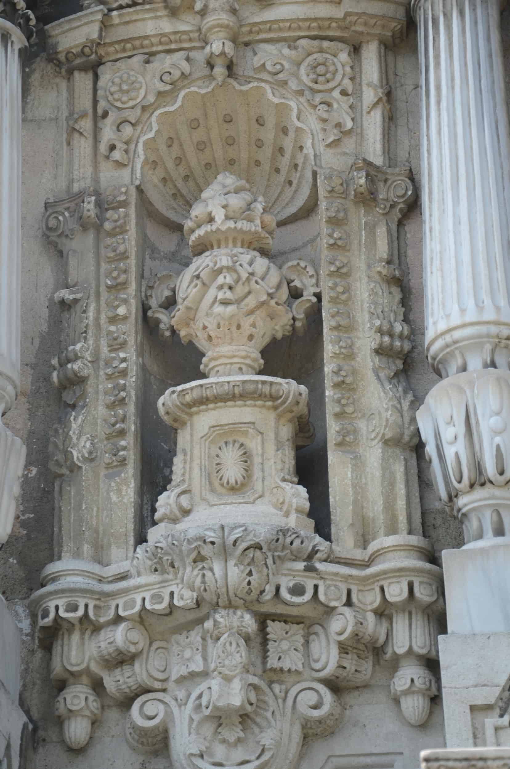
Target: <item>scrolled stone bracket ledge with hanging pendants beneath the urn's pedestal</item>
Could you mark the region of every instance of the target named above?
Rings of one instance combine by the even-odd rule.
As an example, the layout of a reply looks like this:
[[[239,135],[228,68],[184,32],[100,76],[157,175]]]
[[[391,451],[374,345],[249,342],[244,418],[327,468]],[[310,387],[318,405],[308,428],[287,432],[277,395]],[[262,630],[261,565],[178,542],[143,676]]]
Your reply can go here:
[[[391,694],[411,724],[437,694],[441,570],[418,537],[378,540],[361,568],[290,527],[153,530],[129,575],[82,563],[49,570],[31,608],[52,644],[55,713],[82,748],[100,682],[132,703],[126,738],[173,767],[293,769],[303,741],[341,724],[341,693],[395,661]]]

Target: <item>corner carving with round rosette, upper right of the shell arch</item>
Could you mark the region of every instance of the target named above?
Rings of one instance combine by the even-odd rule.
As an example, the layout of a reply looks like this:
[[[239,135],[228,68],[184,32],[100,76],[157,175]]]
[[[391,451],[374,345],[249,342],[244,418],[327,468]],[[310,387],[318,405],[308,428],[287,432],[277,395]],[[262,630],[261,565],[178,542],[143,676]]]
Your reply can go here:
[[[349,46],[341,42],[302,38],[287,45],[258,43],[255,69],[265,67],[276,80],[293,91],[303,92],[324,123],[324,144],[342,138],[352,128],[354,71]]]

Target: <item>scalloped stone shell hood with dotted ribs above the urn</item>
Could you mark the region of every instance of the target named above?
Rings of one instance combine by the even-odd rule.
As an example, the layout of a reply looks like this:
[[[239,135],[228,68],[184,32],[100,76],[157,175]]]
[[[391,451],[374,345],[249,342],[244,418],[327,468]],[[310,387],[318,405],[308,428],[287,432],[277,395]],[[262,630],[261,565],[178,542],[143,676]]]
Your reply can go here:
[[[278,224],[306,216],[317,203],[310,131],[292,102],[265,85],[226,80],[190,88],[157,110],[139,144],[136,181],[149,207],[182,225],[221,171],[246,179]]]

